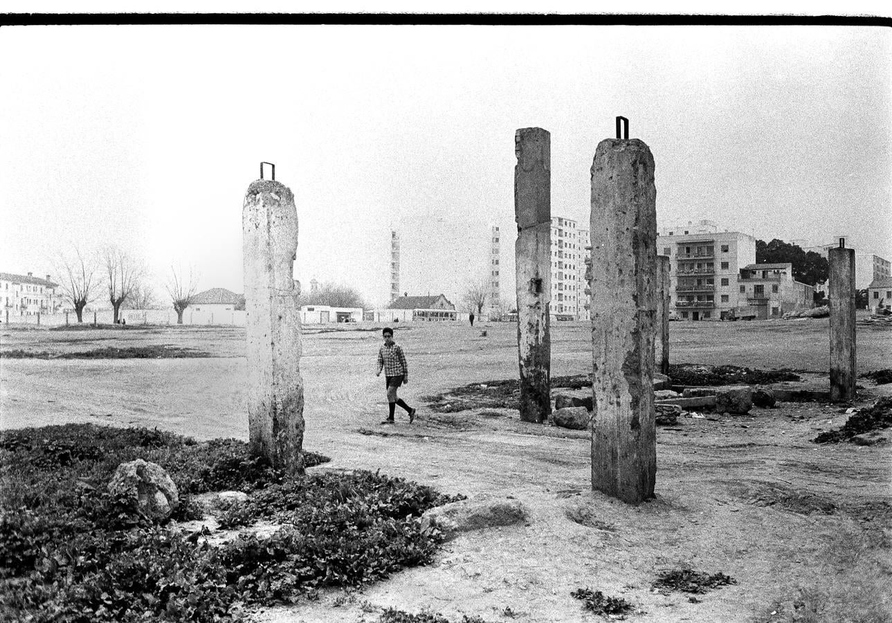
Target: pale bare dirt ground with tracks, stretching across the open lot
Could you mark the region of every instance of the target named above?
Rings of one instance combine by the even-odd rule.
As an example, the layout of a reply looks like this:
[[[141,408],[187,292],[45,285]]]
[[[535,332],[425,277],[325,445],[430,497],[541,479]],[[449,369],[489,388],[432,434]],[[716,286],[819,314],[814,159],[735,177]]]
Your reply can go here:
[[[570,596],[578,587],[632,602],[630,620],[892,620],[892,443],[811,441],[845,423],[847,405],[779,403],[659,428],[657,498],[635,507],[591,492],[583,431],[527,424],[509,410],[484,417],[424,409],[420,396],[515,378],[513,325],[398,328],[411,371],[401,396],[421,408],[415,424],[398,414],[390,428],[378,424],[386,410],[384,382],[374,375],[380,333],[365,328],[305,328],[304,445],[332,457],[315,469],[381,469],[450,494],[513,497],[529,521],[458,536],[431,566],[361,594],[332,591],[260,611],[258,621],[374,621],[384,607],[430,608],[458,620],[461,613],[487,621],[598,620]],[[671,333],[673,362],[792,368],[826,383],[827,319],[673,322]],[[892,367],[892,330],[859,327],[857,340],[859,371]],[[89,421],[246,438],[244,329],[0,328],[2,350],[108,345],[174,345],[213,356],[0,360],[0,427]],[[589,370],[588,328],[558,324],[552,375]],[[859,385],[855,406],[892,395],[892,385]],[[681,566],[723,571],[737,584],[698,595],[699,602],[651,589],[659,570]]]

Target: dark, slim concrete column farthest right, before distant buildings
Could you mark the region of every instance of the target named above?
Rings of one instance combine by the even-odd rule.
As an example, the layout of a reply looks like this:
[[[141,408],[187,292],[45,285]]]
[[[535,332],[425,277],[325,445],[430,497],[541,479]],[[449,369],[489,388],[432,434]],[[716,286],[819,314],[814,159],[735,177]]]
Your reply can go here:
[[[830,249],[830,401],[855,398],[855,249]]]

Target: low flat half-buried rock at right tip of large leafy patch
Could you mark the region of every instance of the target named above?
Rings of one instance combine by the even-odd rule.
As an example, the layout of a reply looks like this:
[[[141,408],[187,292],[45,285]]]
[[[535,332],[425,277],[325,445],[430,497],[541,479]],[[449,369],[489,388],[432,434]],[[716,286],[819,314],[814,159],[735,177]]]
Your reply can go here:
[[[444,540],[450,541],[462,532],[510,526],[526,517],[524,505],[516,500],[461,500],[425,512],[421,526],[439,528]]]

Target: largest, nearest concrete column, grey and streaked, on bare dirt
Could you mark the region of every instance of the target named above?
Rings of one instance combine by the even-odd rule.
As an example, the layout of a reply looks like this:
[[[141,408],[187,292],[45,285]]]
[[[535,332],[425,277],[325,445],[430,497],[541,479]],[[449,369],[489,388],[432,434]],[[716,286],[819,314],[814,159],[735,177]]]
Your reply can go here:
[[[591,488],[628,503],[653,497],[657,473],[656,200],[648,145],[601,141],[591,165]]]

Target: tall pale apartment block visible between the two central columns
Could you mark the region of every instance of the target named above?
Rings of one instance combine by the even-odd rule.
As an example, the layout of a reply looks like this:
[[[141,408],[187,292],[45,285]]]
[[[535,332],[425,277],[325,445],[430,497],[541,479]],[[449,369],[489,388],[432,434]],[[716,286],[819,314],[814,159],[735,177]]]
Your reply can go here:
[[[551,217],[551,320],[580,319],[587,238],[575,220]]]

